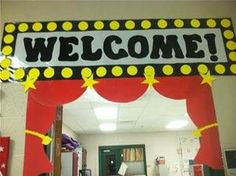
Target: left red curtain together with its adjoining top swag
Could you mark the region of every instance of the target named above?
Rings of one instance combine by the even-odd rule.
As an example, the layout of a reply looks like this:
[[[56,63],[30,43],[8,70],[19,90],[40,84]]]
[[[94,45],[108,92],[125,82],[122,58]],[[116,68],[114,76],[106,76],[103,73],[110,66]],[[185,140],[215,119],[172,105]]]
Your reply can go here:
[[[26,129],[41,134],[48,132],[56,117],[57,105],[77,99],[85,89],[81,80],[38,81],[37,89],[28,94]],[[42,140],[26,135],[24,176],[38,176],[52,171],[52,165],[44,153]]]

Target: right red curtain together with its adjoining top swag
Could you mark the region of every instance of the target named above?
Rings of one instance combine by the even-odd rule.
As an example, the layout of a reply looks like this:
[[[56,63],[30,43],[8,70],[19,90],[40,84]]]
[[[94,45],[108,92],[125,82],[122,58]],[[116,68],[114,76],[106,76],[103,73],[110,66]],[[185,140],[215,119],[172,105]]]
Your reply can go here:
[[[169,77],[159,81],[154,88],[160,94],[172,99],[186,99],[188,114],[198,128],[216,123],[211,88],[207,84],[201,84],[201,77]],[[196,164],[206,164],[217,170],[223,169],[216,127],[202,133],[200,150],[194,160]]]

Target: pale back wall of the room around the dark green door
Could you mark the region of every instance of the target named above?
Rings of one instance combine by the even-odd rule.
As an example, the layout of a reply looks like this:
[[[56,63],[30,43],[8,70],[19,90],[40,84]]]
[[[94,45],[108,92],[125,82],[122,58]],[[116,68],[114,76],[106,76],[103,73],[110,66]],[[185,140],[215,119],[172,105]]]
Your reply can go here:
[[[182,159],[177,149],[180,148],[180,140],[182,138],[193,139],[191,131],[79,136],[82,146],[87,150],[87,168],[92,169],[93,175],[98,175],[99,173],[99,146],[145,144],[148,176],[157,175],[157,167],[155,166],[157,156],[165,156],[167,166],[170,169],[170,176],[180,176]],[[184,143],[182,143],[182,148],[184,149],[192,148],[189,151],[190,158],[188,159],[193,159],[199,146],[198,141],[192,144],[187,143],[187,146],[186,143],[183,145]],[[178,171],[175,172],[176,168],[178,168]]]

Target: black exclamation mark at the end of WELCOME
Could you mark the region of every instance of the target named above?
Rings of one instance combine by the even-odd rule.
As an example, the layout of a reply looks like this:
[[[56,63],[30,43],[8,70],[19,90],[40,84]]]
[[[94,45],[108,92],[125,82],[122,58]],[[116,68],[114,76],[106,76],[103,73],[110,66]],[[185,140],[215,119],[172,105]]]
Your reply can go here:
[[[212,54],[210,59],[212,61],[217,61],[218,57],[215,55],[217,52],[216,51],[216,41],[215,41],[216,35],[215,34],[206,34],[206,35],[204,35],[204,38],[207,41],[209,52],[210,52],[210,54]]]

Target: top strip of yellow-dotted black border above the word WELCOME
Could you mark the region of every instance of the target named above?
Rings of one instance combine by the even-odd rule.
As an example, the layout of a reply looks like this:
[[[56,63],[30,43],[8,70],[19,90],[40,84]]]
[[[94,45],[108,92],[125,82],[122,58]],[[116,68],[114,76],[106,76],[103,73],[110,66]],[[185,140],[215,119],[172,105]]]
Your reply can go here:
[[[147,30],[169,28],[232,28],[230,18],[172,18],[172,19],[126,19],[126,20],[78,20],[78,21],[36,21],[6,23],[4,32],[55,32],[90,30]]]

